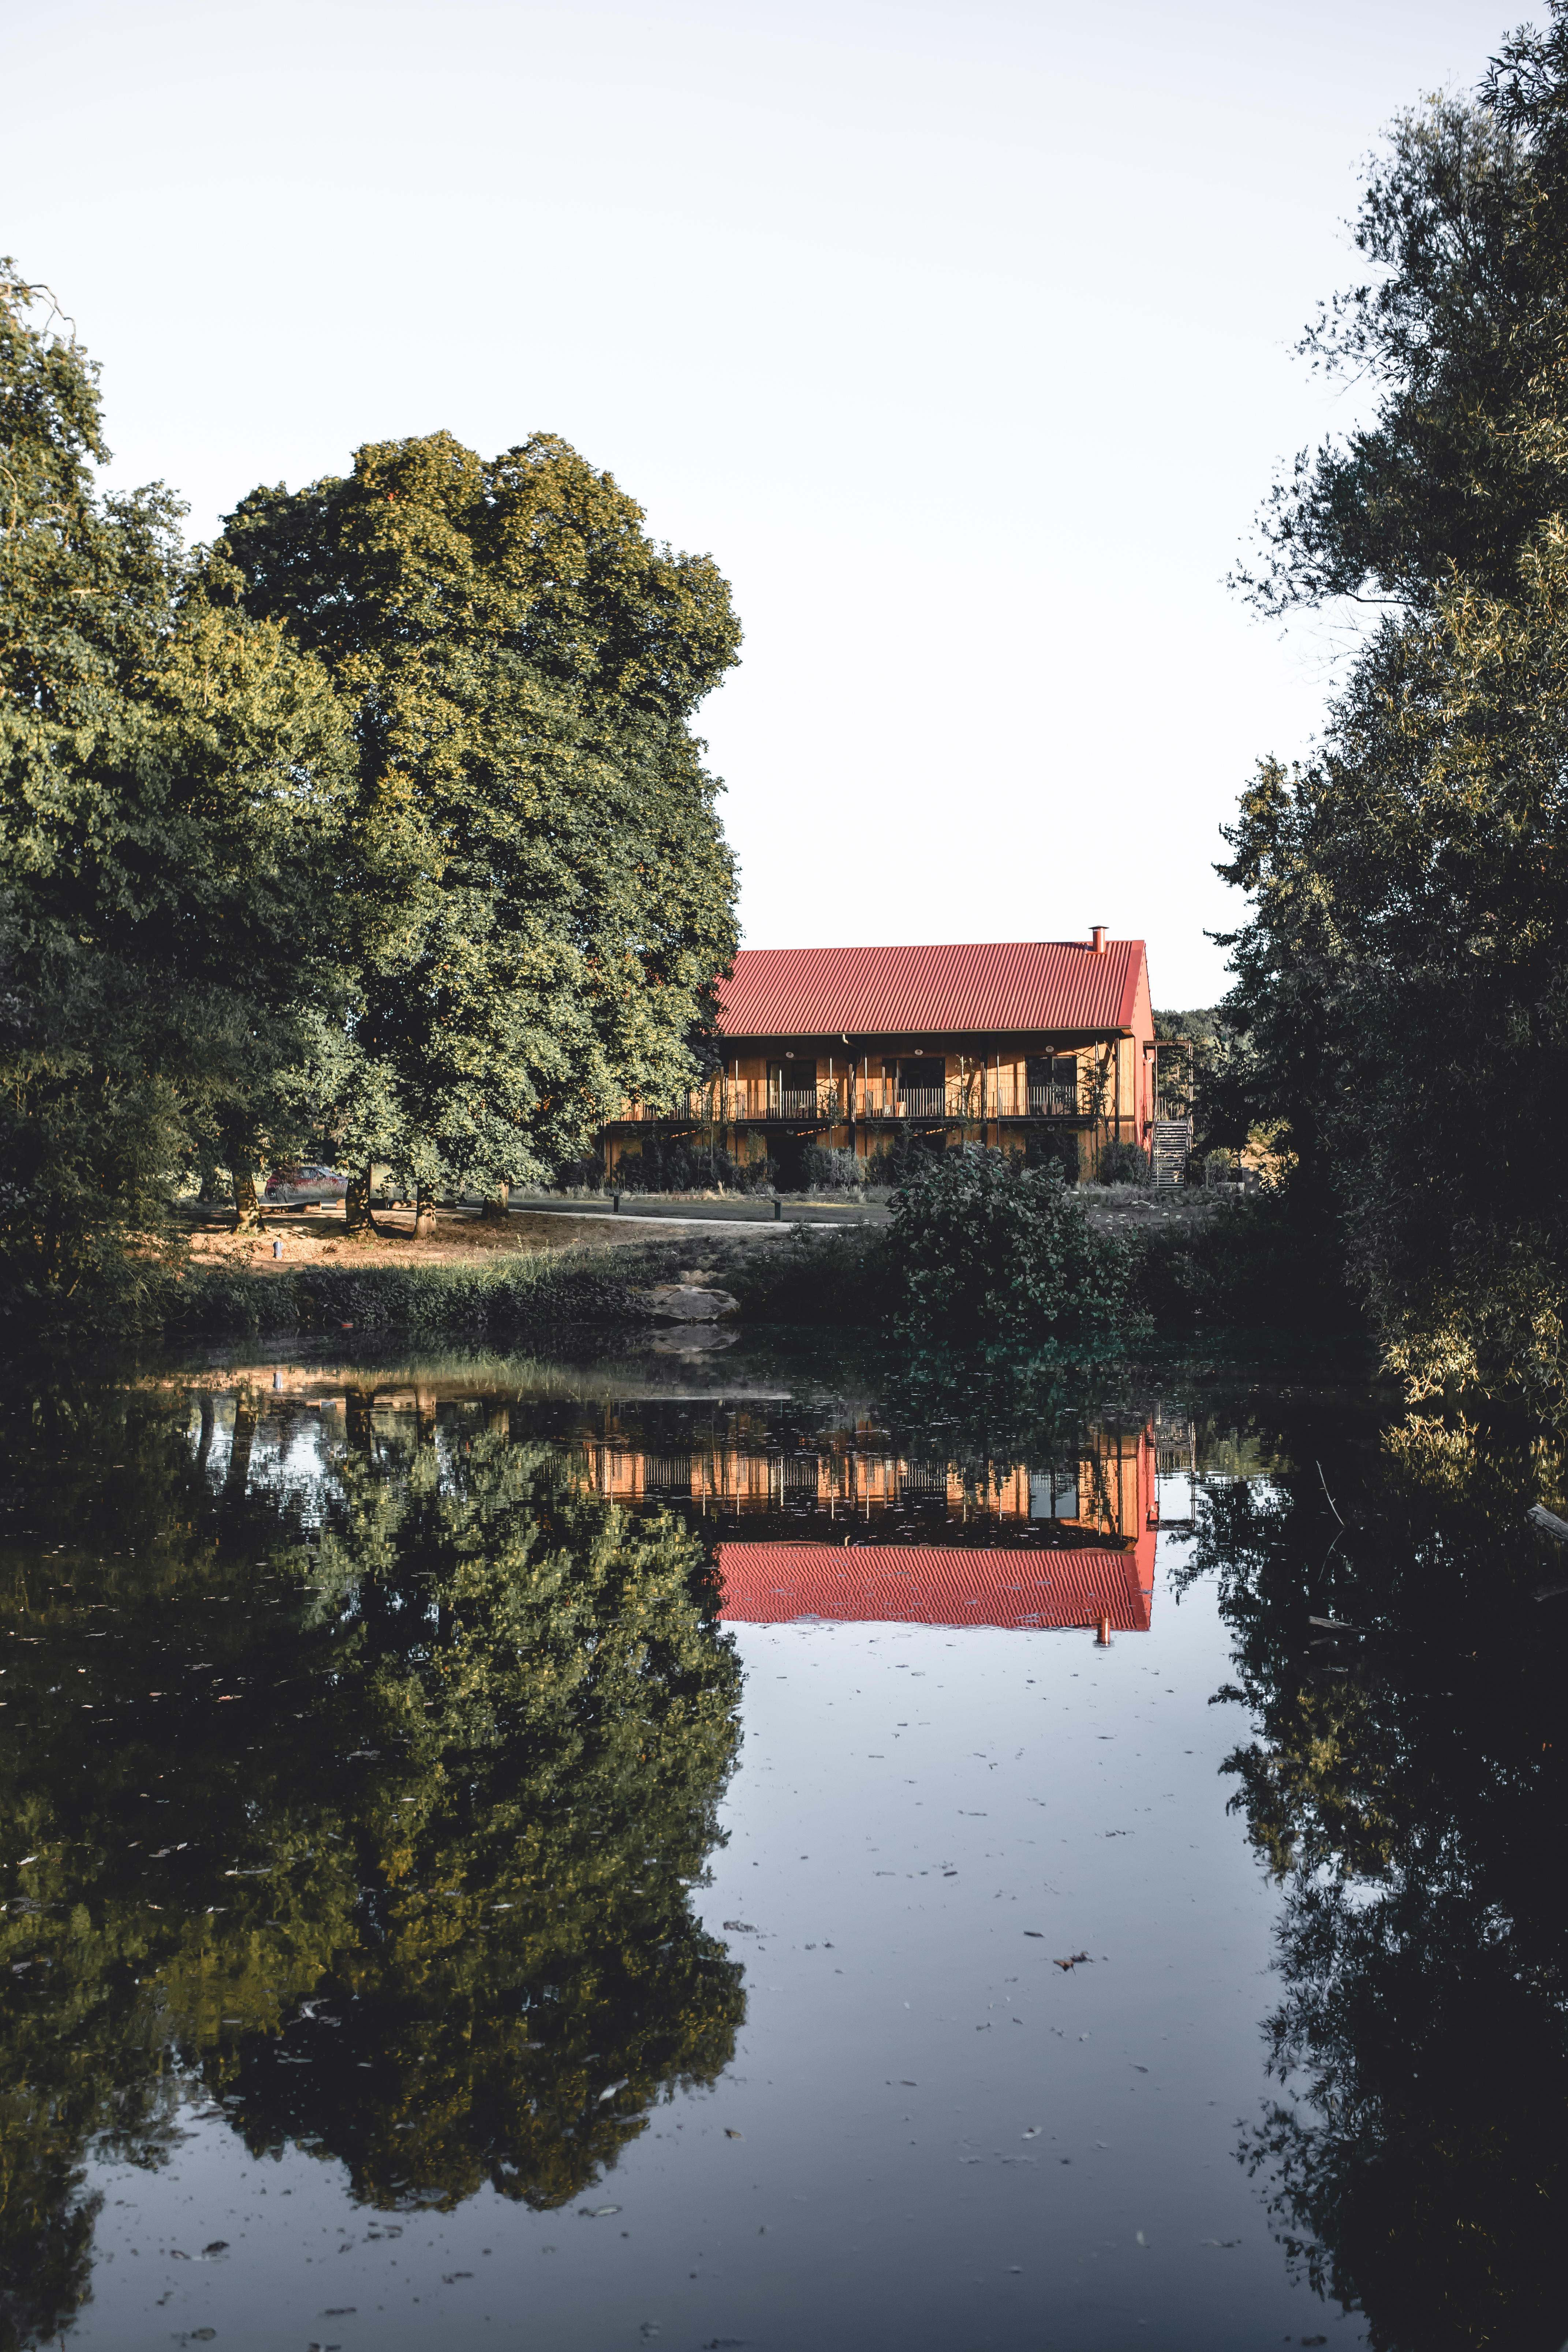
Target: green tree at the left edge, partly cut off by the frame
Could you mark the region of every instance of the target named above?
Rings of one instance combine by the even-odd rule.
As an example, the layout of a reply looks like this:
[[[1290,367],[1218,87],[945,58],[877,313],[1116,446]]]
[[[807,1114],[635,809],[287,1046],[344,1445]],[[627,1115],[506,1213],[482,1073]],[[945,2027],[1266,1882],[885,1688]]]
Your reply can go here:
[[[0,1249],[113,1287],[169,1183],[284,1117],[357,750],[324,666],[223,609],[162,487],[110,499],[96,367],[0,263]]]

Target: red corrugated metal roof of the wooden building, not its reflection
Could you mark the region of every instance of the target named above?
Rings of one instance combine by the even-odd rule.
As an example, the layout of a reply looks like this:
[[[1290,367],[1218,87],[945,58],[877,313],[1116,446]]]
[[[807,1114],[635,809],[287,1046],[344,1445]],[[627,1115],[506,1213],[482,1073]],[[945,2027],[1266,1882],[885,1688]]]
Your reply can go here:
[[[886,1037],[917,1030],[1133,1025],[1140,938],[978,948],[741,948],[719,981],[726,1037]]]

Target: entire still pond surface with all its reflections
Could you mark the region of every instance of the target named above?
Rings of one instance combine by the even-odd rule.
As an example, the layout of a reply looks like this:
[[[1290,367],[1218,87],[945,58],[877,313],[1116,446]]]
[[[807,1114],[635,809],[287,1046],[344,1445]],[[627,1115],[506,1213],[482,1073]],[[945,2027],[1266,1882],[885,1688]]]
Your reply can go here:
[[[0,2347],[1554,2352],[1559,1475],[755,1341],[14,1385]]]

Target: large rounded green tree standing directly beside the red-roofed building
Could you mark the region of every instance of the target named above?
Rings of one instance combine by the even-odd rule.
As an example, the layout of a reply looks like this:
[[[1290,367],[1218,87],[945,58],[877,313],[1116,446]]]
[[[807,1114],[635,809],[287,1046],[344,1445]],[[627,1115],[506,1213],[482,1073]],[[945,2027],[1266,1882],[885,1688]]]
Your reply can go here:
[[[221,581],[355,708],[343,1157],[494,1197],[684,1087],[736,946],[691,734],[741,640],[715,564],[552,435],[484,461],[433,433],[256,489]]]

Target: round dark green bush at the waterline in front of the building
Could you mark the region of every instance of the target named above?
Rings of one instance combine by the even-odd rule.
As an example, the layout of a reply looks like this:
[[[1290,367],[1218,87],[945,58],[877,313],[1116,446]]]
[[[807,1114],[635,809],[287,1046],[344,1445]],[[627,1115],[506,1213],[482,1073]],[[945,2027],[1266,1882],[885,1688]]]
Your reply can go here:
[[[966,1150],[893,1197],[893,1322],[912,1338],[1112,1343],[1145,1336],[1133,1261],[1095,1235],[1060,1169]]]

